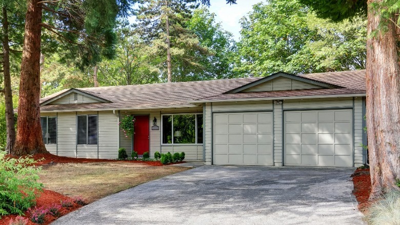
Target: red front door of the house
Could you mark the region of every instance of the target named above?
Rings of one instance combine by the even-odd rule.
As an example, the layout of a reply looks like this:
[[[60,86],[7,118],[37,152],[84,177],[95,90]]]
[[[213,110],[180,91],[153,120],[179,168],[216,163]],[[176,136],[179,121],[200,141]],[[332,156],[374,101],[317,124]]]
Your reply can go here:
[[[149,116],[135,116],[135,119],[133,150],[137,152],[137,155],[143,155],[149,151]]]

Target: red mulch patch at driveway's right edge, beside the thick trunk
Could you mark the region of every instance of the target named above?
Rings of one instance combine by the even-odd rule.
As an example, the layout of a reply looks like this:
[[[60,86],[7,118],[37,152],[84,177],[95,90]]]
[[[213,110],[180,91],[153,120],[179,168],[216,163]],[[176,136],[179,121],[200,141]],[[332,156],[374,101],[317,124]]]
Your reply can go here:
[[[368,198],[371,192],[369,168],[357,168],[351,177],[353,178],[353,194],[358,201],[358,209],[364,212],[369,206]]]

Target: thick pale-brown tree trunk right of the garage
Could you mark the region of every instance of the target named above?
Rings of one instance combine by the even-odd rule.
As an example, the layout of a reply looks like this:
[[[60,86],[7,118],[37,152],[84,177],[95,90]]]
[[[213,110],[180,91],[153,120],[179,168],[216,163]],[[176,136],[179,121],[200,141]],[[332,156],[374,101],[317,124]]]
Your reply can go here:
[[[399,190],[400,179],[400,69],[396,28],[379,28],[380,13],[368,1],[367,39],[367,128],[368,151],[374,200],[389,190]],[[376,35],[373,31],[377,31]]]

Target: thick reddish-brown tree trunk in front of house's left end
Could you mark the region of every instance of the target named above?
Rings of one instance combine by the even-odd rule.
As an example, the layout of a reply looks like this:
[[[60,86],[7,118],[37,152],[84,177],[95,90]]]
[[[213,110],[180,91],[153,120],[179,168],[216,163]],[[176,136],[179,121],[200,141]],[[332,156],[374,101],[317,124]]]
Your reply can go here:
[[[41,0],[28,0],[24,49],[19,82],[17,136],[13,155],[48,153],[42,140],[39,99],[41,92]]]

